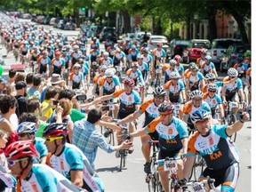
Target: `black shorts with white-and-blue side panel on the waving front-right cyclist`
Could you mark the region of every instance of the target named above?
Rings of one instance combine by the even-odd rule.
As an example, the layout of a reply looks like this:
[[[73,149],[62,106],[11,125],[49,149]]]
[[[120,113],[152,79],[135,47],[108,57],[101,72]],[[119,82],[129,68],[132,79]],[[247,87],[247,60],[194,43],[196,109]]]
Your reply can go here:
[[[239,177],[239,164],[231,164],[228,168],[222,170],[210,170],[206,168],[199,180],[206,179],[207,176],[214,179],[214,186],[221,185],[221,191],[235,191],[236,183]]]

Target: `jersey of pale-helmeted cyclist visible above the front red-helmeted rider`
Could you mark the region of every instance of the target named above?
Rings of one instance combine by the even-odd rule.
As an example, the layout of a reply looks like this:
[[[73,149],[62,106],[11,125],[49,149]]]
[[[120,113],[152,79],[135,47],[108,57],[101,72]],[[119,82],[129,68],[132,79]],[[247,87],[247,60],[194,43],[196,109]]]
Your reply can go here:
[[[180,101],[180,92],[185,90],[184,84],[181,80],[178,81],[178,84],[172,84],[172,80],[164,84],[164,89],[169,91],[169,98],[171,102]]]

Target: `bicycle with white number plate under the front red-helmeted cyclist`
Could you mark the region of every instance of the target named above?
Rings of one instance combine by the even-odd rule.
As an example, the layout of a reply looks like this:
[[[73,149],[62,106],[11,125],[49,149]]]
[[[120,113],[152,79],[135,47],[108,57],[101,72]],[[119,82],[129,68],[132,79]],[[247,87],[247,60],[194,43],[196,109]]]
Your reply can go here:
[[[166,157],[165,159],[157,160],[158,162],[164,162],[164,171],[170,172],[169,174],[169,191],[174,192],[180,189],[179,180],[178,180],[178,164],[177,160],[182,159],[181,156],[177,157]]]

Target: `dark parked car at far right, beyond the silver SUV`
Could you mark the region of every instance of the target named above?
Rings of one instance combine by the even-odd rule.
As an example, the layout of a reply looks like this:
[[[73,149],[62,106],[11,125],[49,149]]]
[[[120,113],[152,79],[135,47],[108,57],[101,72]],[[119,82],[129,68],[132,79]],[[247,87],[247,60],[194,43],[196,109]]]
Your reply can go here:
[[[223,72],[228,68],[233,68],[237,62],[237,58],[244,57],[244,52],[248,49],[250,49],[250,47],[242,44],[232,44],[228,47],[227,51],[221,51],[220,71]]]

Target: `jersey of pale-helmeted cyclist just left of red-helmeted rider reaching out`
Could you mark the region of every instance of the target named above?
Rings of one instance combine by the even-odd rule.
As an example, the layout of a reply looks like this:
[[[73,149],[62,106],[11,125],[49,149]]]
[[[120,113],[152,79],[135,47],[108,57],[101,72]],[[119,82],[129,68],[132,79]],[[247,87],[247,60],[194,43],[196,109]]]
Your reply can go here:
[[[110,83],[107,81],[107,76],[100,78],[100,86],[103,87],[103,95],[108,95],[115,92],[117,85],[120,85],[118,76],[113,76]]]

